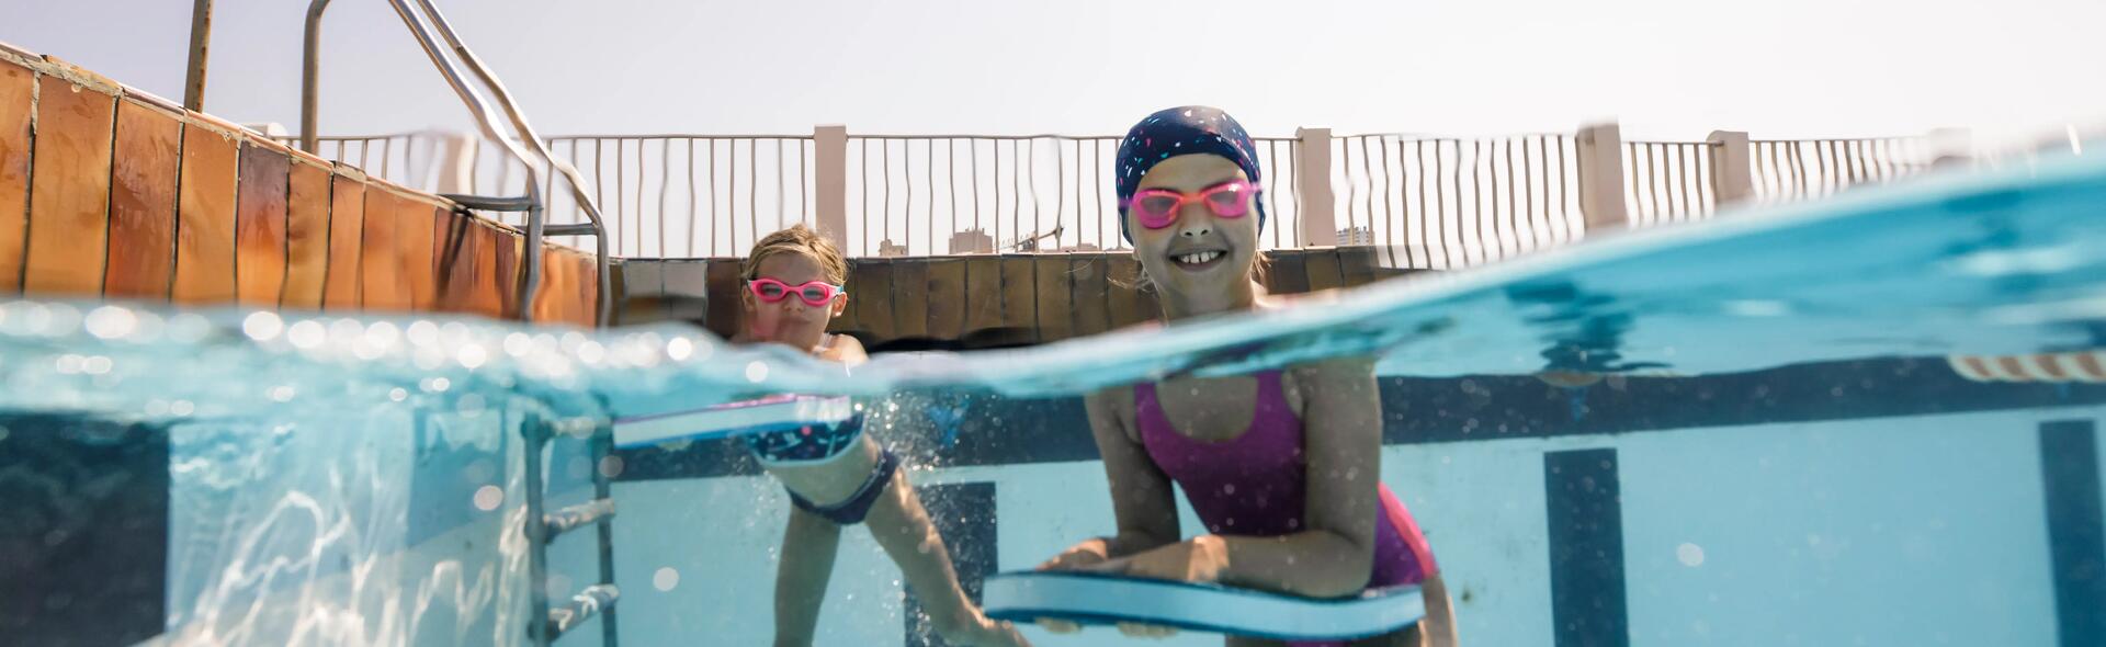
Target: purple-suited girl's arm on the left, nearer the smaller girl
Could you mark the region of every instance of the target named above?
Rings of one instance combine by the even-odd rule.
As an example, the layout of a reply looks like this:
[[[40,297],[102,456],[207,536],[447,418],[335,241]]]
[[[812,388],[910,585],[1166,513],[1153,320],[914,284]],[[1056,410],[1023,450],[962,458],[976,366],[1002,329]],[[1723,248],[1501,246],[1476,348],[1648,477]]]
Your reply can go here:
[[[1082,567],[1177,542],[1177,497],[1171,493],[1171,478],[1127,430],[1120,411],[1131,409],[1129,398],[1131,390],[1104,390],[1082,398],[1089,409],[1089,430],[1104,457],[1104,476],[1112,487],[1118,535],[1076,544],[1045,569]]]

